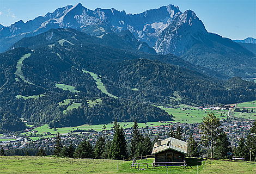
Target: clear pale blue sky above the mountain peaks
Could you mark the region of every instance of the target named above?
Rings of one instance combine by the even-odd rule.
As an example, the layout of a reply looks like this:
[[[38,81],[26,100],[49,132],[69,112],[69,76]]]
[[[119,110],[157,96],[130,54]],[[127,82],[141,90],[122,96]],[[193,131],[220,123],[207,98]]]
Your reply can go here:
[[[225,38],[245,39],[256,38],[256,1],[62,1],[62,0],[1,0],[0,23],[4,26],[16,21],[33,20],[37,16],[44,16],[57,8],[66,5],[76,5],[78,2],[89,9],[115,8],[125,10],[127,14],[138,14],[145,10],[159,8],[163,5],[173,4],[180,11],[193,10],[203,21],[208,32],[217,33]]]

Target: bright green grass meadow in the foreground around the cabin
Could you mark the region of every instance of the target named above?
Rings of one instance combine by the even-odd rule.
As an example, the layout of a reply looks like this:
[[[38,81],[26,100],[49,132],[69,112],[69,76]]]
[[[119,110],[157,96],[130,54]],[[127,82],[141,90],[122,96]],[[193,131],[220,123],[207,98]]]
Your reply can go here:
[[[71,159],[54,157],[0,157],[0,173],[255,173],[256,162],[206,160],[189,166],[152,166],[154,159],[137,162],[148,163],[145,170],[131,169],[132,161],[106,159]],[[190,159],[191,160],[191,159]],[[201,159],[192,159],[192,161]],[[123,164],[124,163],[124,164]],[[117,170],[118,166],[118,170]],[[141,166],[142,169],[144,166]]]

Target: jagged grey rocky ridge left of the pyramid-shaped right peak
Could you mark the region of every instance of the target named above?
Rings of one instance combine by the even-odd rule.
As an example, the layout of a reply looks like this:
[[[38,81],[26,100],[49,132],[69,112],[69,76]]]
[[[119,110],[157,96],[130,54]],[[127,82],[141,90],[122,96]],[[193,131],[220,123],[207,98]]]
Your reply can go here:
[[[147,10],[141,14],[126,14],[125,11],[113,8],[90,10],[83,7],[81,3],[75,6],[67,5],[26,23],[18,21],[11,26],[2,27],[0,29],[1,43],[5,44],[1,45],[1,51],[8,49],[13,43],[24,37],[38,35],[51,28],[68,27],[90,35],[118,33],[128,29],[139,41],[147,42],[149,46],[153,47],[157,35],[178,13],[180,10],[174,5]]]

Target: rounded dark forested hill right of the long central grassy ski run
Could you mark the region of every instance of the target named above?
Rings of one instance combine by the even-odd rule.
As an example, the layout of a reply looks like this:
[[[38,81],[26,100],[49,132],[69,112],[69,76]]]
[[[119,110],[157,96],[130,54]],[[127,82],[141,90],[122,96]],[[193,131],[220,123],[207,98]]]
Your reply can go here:
[[[246,83],[236,89],[226,89],[216,81],[196,71],[168,65],[156,60],[134,59],[114,63],[102,72],[103,82],[113,95],[141,102],[172,103],[178,94],[197,105],[234,103],[241,96],[255,98],[256,84]],[[235,83],[235,82],[234,82]],[[228,87],[228,85],[227,85]]]

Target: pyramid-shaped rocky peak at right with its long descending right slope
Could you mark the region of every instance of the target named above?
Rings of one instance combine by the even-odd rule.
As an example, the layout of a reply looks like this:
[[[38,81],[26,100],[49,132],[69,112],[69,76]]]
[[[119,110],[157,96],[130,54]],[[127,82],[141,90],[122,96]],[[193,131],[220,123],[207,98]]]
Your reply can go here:
[[[157,53],[173,53],[229,77],[256,76],[255,54],[230,39],[208,33],[191,10],[174,18],[159,35],[154,48]]]

